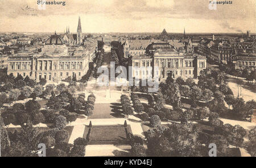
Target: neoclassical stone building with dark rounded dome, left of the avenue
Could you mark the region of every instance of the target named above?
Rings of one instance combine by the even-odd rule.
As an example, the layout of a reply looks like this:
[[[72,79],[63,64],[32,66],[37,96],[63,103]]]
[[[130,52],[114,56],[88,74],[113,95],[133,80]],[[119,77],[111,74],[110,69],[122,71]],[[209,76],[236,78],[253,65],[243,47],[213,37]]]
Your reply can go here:
[[[61,81],[68,76],[77,80],[86,74],[89,68],[88,54],[68,54],[68,47],[59,35],[52,35],[46,40],[41,52],[20,52],[8,59],[7,74],[18,74],[39,81]]]

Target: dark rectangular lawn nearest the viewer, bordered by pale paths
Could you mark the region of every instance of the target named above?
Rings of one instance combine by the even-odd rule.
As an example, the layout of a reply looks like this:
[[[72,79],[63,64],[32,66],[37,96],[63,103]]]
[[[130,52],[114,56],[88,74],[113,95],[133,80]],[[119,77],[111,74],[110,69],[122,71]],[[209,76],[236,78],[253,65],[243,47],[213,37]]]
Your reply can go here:
[[[88,131],[85,131],[84,138]],[[131,133],[130,125],[127,132]],[[93,126],[90,131],[90,144],[128,144],[126,130],[123,126]]]

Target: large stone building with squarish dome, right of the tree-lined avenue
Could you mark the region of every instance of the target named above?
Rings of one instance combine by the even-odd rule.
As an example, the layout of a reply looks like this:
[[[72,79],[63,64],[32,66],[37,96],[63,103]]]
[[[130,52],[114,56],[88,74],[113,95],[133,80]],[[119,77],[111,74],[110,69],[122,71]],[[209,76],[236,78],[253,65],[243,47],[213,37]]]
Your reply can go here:
[[[165,80],[168,75],[174,78],[197,77],[207,68],[207,61],[201,55],[179,53],[167,42],[152,42],[145,54],[130,57],[129,65],[133,67],[133,77],[143,79],[157,75],[160,80]]]

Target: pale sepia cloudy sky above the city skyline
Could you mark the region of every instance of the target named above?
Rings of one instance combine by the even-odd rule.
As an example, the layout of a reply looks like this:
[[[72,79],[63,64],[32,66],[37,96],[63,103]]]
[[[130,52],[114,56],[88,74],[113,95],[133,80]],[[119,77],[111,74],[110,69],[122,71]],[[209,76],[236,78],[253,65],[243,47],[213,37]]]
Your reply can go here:
[[[53,1],[53,0],[47,0]],[[55,0],[59,1],[59,0]],[[220,0],[218,0],[220,1]],[[209,10],[208,0],[0,0],[0,32],[255,32],[255,0],[233,0]]]

